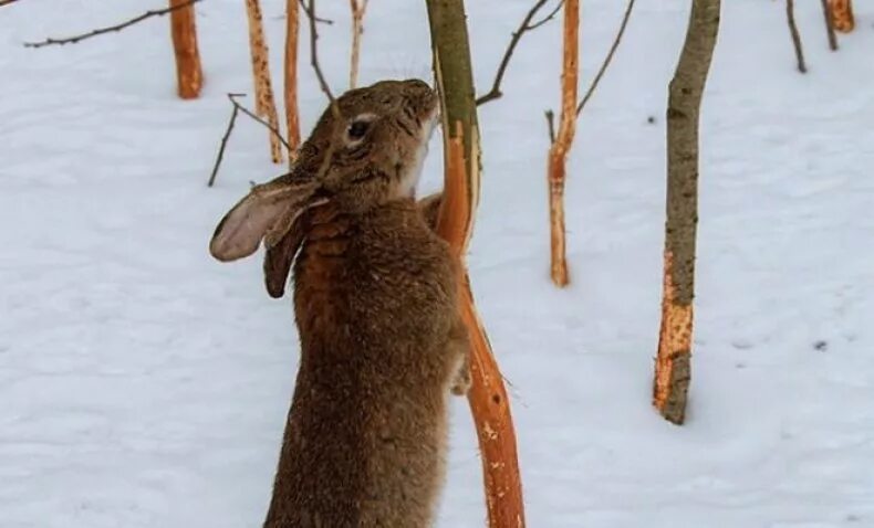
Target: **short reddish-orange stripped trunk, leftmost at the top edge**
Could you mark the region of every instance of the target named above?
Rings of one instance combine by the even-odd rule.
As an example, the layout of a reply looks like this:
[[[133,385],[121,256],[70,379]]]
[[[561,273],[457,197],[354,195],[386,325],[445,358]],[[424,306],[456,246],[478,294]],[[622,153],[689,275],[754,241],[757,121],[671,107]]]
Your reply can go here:
[[[185,2],[186,0],[170,0],[170,8]],[[194,99],[200,95],[200,87],[204,84],[200,52],[197,49],[194,4],[170,11],[170,35],[176,56],[177,92],[184,99]]]

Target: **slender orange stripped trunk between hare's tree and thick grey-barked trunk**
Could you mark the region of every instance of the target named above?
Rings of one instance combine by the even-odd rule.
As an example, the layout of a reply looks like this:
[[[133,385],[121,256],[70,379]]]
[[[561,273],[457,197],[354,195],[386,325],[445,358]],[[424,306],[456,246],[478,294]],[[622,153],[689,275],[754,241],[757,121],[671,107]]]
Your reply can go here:
[[[550,212],[550,276],[566,286],[568,260],[564,232],[564,176],[568,152],[576,130],[576,86],[580,76],[580,1],[564,2],[564,51],[561,72],[561,122],[550,147],[548,180]]]

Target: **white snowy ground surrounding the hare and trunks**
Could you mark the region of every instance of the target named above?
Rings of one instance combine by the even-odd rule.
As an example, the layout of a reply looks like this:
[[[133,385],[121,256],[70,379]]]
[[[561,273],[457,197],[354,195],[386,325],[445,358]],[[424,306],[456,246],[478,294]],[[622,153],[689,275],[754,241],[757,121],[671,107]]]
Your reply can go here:
[[[277,82],[283,3],[263,6]],[[485,91],[530,2],[468,3]],[[624,2],[583,3],[585,87]],[[855,2],[857,30],[832,54],[819,2],[797,2],[801,76],[782,2],[724,2],[703,125],[691,406],[675,427],[648,399],[662,116],[688,3],[638,2],[580,122],[566,291],[547,278],[542,116],[558,102],[560,22],[526,38],[507,96],[481,112],[469,264],[512,382],[529,525],[874,527],[874,6]],[[337,19],[320,44],[340,89],[347,4],[321,4]],[[251,91],[242,2],[198,7],[196,102],[175,97],[166,20],[20,46],[144,8],[0,8],[2,528],[252,527],[269,498],[296,368],[290,303],[267,297],[258,258],[221,265],[206,251],[249,180],[280,170],[263,130],[241,120],[218,187],[205,187],[225,93]],[[423,2],[372,2],[366,28],[364,82],[429,75]],[[302,76],[309,129],[323,97]],[[426,170],[438,187],[439,156]],[[454,422],[440,526],[482,526],[461,400]]]

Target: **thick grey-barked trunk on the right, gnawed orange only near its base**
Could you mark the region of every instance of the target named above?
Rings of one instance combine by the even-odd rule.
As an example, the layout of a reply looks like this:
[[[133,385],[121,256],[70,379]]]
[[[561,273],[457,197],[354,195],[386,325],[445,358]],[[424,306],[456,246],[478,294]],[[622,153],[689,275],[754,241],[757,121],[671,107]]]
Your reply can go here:
[[[667,108],[667,222],[662,329],[653,403],[681,424],[690,380],[695,242],[698,223],[698,117],[719,31],[720,0],[693,0]]]

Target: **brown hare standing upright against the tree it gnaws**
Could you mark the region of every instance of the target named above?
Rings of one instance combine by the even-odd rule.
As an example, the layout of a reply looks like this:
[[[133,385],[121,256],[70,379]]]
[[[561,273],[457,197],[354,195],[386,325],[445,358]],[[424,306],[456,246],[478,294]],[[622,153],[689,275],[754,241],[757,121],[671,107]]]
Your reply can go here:
[[[301,360],[263,526],[427,527],[449,394],[469,384],[458,264],[414,201],[438,97],[419,80],[384,81],[336,108],[210,242],[227,262],[263,239],[273,297],[294,267]]]

